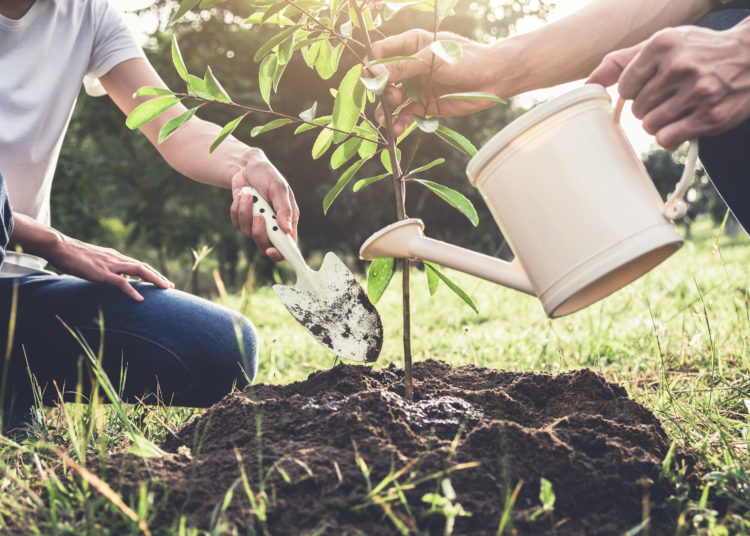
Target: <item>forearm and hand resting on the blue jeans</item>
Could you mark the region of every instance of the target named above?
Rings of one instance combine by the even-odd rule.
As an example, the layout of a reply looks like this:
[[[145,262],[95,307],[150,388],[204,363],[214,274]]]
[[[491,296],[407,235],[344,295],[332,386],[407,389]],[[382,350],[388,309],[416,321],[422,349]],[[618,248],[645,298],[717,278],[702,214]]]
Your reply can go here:
[[[8,250],[20,246],[25,253],[47,259],[52,266],[66,274],[114,285],[135,301],[143,301],[143,296],[123,276],[139,277],[160,288],[174,287],[145,262],[127,257],[114,249],[70,238],[25,214],[16,212],[13,220]]]

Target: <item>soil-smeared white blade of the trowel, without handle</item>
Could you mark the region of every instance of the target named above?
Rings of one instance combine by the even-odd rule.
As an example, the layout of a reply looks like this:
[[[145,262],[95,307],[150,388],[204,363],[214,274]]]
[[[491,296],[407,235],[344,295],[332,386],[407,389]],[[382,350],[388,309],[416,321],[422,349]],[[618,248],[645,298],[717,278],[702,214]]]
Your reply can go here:
[[[274,285],[287,310],[323,346],[344,359],[372,363],[383,345],[380,315],[349,268],[327,253],[320,270],[320,293]]]

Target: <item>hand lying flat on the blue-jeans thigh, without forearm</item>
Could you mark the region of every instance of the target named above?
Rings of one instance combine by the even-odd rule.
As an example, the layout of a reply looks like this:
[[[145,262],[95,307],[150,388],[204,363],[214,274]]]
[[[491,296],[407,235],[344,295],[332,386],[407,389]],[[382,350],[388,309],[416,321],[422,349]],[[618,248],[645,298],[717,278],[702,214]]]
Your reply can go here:
[[[112,248],[94,246],[64,235],[61,235],[61,239],[46,250],[43,256],[66,274],[114,285],[138,302],[143,301],[143,296],[124,276],[139,277],[160,288],[174,288],[171,281],[145,262],[130,258]]]

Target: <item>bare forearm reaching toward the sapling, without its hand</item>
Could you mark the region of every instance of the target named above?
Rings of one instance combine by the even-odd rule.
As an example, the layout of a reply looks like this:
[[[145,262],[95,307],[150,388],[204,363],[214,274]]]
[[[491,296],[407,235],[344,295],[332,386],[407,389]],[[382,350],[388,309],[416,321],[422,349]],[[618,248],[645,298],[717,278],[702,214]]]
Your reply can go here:
[[[593,0],[568,17],[493,45],[499,69],[494,92],[510,97],[584,78],[609,52],[660,29],[691,24],[713,6],[711,0]]]

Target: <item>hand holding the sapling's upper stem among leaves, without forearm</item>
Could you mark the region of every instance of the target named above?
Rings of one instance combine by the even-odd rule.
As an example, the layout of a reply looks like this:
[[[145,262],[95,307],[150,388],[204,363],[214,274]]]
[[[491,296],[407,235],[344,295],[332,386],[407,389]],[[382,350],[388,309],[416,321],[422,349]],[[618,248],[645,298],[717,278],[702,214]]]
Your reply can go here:
[[[462,57],[455,65],[451,65],[430,49],[434,35],[425,30],[409,30],[393,37],[387,37],[372,45],[373,59],[391,58],[394,56],[416,56],[418,60],[399,60],[370,67],[373,76],[388,70],[389,86],[384,97],[391,110],[405,106],[394,119],[393,131],[400,135],[414,116],[453,116],[466,115],[494,105],[489,100],[436,100],[441,95],[463,93],[468,91],[482,91],[496,94],[497,77],[492,66],[496,58],[492,58],[490,47],[481,45],[449,32],[439,32],[438,40],[451,40],[461,46]],[[434,63],[433,63],[434,62]],[[430,66],[433,66],[430,77]],[[363,74],[367,76],[367,74]],[[401,82],[418,76],[422,82],[425,95],[420,102],[408,103],[406,89]],[[431,82],[431,84],[430,84]],[[430,84],[430,87],[428,87]],[[427,102],[425,102],[427,101]],[[426,106],[427,105],[427,106]],[[382,106],[378,106],[375,117],[381,124],[385,122]]]

